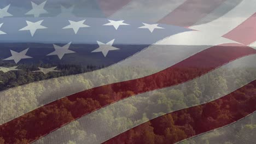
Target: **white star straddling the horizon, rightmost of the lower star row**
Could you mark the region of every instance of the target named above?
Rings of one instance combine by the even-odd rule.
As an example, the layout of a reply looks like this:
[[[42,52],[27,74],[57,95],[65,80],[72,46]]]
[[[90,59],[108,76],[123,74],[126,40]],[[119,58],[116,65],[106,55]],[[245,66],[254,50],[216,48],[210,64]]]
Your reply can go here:
[[[107,44],[104,44],[104,43],[101,43],[100,41],[97,41],[98,43],[98,48],[92,52],[102,52],[104,57],[107,56],[108,54],[108,51],[112,51],[112,50],[119,50],[117,47],[113,47],[113,43],[114,43],[114,40],[111,40],[109,41]]]

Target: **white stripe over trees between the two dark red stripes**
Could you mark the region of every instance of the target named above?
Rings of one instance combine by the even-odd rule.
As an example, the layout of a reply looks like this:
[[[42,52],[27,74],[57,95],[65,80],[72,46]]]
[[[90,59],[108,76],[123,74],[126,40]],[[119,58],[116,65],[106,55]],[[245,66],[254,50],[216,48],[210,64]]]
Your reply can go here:
[[[226,65],[223,65],[222,67],[213,70],[210,73],[198,77],[197,79],[185,82],[181,85],[163,88],[153,92],[146,92],[138,94],[136,97],[120,100],[117,103],[103,107],[100,110],[79,118],[77,121],[72,122],[63,128],[50,133],[49,135],[46,135],[43,137],[43,140],[40,140],[40,142],[44,141],[44,143],[57,143],[58,141],[67,139],[75,140],[76,143],[101,143],[111,139],[114,136],[117,136],[118,134],[123,133],[126,130],[136,127],[139,124],[147,122],[150,119],[165,115],[166,113],[172,111],[208,103],[215,99],[221,98],[224,95],[229,94],[256,79],[256,63],[254,62],[255,59],[256,55],[242,57]],[[224,89],[224,92],[218,90],[216,91],[216,89],[213,89],[214,87],[207,87],[210,89],[205,91],[205,95],[200,95],[198,97],[200,103],[197,103],[196,101],[189,101],[189,103],[186,103],[186,105],[174,105],[175,103],[180,102],[179,99],[185,99],[188,97],[188,95],[185,95],[185,93],[187,88],[193,85],[193,83],[197,82],[199,89],[203,89],[207,86],[207,83],[205,82],[207,79],[208,84],[213,85],[216,83],[216,79],[218,79],[219,76],[225,77],[223,72],[233,71],[234,68],[242,69],[242,71],[238,71],[236,69],[234,70],[234,73],[229,75],[228,79],[226,79],[226,85],[228,86],[228,89]],[[211,79],[211,77],[213,78]],[[234,85],[234,80],[237,79],[243,80],[240,85]],[[220,86],[222,84],[224,83],[218,83]],[[172,93],[171,91],[176,92]],[[179,98],[182,97],[181,93],[179,92],[183,92],[184,98]],[[167,99],[162,99],[162,95],[166,95]],[[156,101],[168,101],[168,99],[173,100],[173,106],[170,105],[171,109],[166,109],[165,106],[156,105]],[[143,119],[139,117],[142,116],[143,113],[148,113],[148,110],[153,110],[153,112],[150,111],[152,113],[151,115],[148,115],[149,118]],[[136,112],[133,113],[133,111]],[[162,113],[153,115],[154,112]],[[78,136],[80,135],[81,131],[78,131],[77,133],[70,133],[70,131],[65,130],[77,122],[80,124],[79,130],[83,130],[86,134],[88,134],[84,137],[83,140],[78,140]]]

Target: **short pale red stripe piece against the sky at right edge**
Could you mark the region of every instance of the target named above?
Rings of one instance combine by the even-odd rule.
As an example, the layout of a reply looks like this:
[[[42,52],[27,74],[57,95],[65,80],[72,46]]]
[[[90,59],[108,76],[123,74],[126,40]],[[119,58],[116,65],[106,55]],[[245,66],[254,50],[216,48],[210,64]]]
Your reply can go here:
[[[223,37],[245,45],[253,43],[256,40],[256,13]]]

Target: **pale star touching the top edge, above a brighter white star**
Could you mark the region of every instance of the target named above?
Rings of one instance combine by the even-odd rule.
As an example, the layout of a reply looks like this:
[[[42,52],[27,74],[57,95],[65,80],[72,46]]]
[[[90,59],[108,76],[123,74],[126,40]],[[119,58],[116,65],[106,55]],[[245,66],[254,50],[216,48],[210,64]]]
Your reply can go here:
[[[48,14],[48,11],[44,9],[46,1],[37,5],[36,3],[31,2],[32,9],[28,11],[25,15],[34,15],[34,17],[39,17],[40,14]]]

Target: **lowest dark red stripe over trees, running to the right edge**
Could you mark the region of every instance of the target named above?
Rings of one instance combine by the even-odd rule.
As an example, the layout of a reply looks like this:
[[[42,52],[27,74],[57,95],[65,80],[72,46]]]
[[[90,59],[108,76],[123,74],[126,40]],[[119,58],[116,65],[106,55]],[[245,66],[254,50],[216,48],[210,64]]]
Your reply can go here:
[[[152,119],[107,143],[176,143],[236,122],[256,110],[256,81],[210,103]]]

